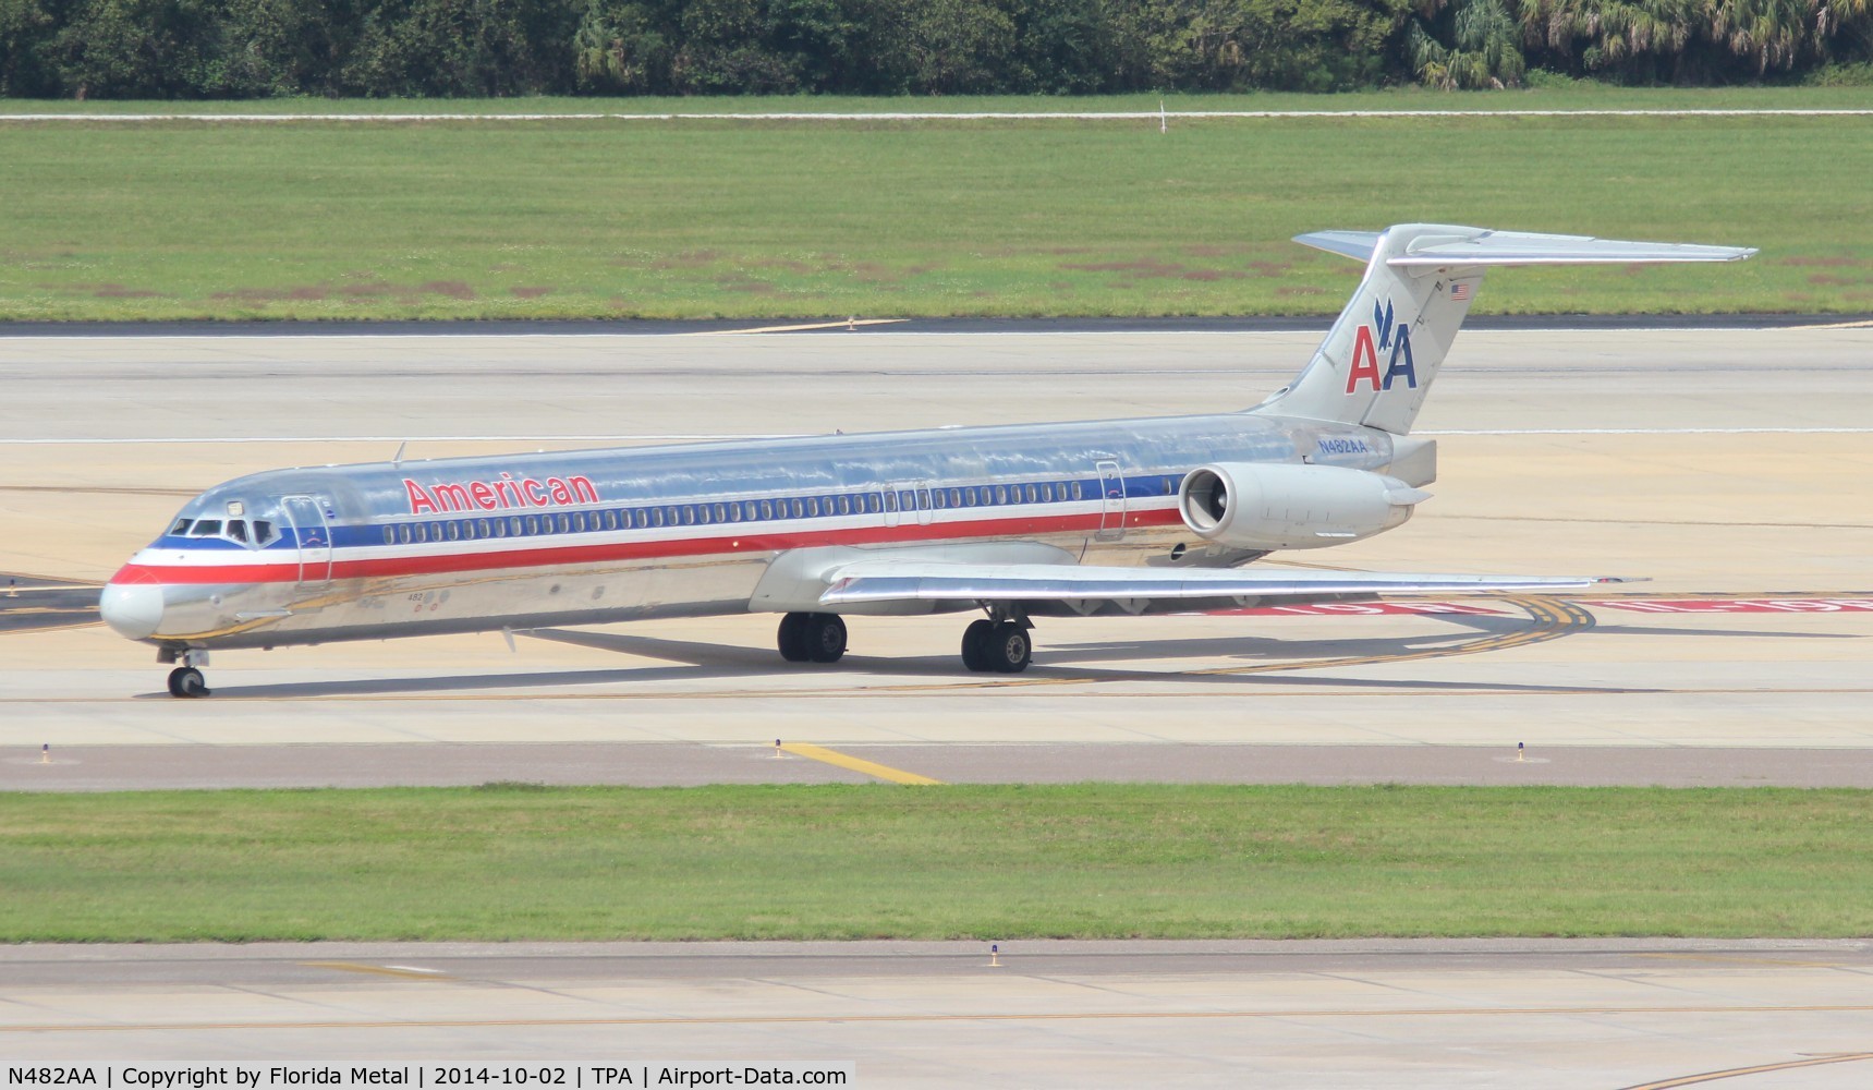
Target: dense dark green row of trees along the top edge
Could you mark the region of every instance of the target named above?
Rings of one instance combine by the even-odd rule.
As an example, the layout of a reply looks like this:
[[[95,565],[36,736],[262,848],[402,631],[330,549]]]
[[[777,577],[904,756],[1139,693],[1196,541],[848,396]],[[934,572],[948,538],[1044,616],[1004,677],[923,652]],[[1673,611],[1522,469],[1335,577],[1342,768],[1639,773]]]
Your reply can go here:
[[[0,0],[4,97],[1714,84],[1869,60],[1873,0]]]

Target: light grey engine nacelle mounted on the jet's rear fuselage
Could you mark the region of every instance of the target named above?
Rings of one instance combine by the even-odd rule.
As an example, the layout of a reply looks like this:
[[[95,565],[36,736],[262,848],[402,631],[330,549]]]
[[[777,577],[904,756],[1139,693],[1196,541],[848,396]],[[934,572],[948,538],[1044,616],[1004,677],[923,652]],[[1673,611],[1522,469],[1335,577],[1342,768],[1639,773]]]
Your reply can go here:
[[[1345,466],[1216,463],[1178,487],[1199,538],[1236,549],[1322,549],[1382,534],[1431,498],[1397,478]]]

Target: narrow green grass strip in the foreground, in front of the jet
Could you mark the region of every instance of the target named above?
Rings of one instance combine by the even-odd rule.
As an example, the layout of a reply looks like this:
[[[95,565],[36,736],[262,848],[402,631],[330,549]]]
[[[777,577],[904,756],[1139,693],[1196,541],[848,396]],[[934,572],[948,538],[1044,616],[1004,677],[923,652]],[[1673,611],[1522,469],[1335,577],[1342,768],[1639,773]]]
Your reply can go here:
[[[0,942],[1873,931],[1864,790],[0,794]]]

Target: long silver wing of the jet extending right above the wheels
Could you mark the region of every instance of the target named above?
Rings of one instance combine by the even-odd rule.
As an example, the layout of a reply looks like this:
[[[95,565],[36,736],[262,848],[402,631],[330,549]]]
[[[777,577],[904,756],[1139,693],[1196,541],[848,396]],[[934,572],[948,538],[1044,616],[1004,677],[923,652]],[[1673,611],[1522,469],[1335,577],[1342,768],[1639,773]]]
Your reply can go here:
[[[1240,567],[1084,567],[1071,564],[946,564],[860,560],[826,573],[826,607],[877,601],[1062,601],[1120,603],[1234,597],[1356,601],[1384,594],[1521,594],[1579,590],[1615,577],[1418,575],[1379,571]],[[1139,609],[1131,609],[1137,603]]]

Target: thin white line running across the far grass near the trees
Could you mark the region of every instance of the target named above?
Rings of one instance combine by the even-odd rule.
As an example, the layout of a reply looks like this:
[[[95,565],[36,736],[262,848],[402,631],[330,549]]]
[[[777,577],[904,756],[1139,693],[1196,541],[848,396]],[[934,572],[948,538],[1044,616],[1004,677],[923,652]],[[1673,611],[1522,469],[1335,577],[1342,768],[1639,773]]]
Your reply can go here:
[[[0,122],[1169,122],[1289,118],[1852,118],[1873,109],[1703,110],[1079,110],[1079,112],[772,112],[772,114],[0,114]]]

